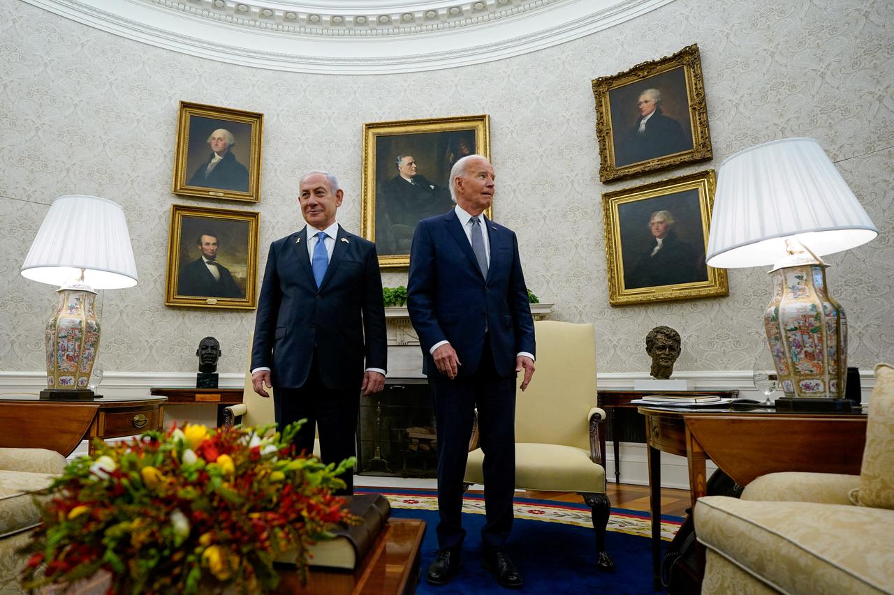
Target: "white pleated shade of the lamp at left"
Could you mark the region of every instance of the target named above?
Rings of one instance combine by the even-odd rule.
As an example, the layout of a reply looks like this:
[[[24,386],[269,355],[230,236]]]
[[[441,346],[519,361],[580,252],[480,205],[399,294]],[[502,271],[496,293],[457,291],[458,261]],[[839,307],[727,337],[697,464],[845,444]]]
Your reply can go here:
[[[121,205],[85,195],[58,197],[31,244],[21,275],[62,285],[80,276],[93,289],[137,284],[131,234]]]

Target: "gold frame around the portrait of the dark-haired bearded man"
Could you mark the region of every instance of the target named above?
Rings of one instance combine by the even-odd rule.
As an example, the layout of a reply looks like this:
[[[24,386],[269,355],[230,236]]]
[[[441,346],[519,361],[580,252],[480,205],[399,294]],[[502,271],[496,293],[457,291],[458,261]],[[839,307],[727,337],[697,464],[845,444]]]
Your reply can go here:
[[[217,228],[221,222],[248,222],[249,231],[245,239],[245,298],[202,298],[184,296],[178,293],[180,279],[180,255],[183,239],[183,218],[201,217],[216,221]],[[191,205],[171,205],[171,226],[168,235],[167,280],[164,289],[165,306],[190,306],[205,308],[226,308],[237,310],[254,310],[257,307],[257,234],[260,229],[260,214],[253,211],[235,211],[232,209],[202,208]],[[213,228],[215,229],[215,228]],[[222,234],[223,235],[223,234]],[[233,268],[233,261],[227,258],[226,245],[222,241],[222,250],[217,260],[227,268]],[[198,259],[198,254],[195,255]],[[240,264],[235,261],[235,264]]]

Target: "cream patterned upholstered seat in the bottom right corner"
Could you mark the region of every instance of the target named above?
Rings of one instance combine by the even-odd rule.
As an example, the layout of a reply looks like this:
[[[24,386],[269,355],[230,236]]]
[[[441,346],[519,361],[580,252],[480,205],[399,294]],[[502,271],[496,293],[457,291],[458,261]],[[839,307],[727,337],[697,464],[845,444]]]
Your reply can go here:
[[[695,520],[702,593],[894,592],[894,367],[875,367],[859,475],[769,473]]]

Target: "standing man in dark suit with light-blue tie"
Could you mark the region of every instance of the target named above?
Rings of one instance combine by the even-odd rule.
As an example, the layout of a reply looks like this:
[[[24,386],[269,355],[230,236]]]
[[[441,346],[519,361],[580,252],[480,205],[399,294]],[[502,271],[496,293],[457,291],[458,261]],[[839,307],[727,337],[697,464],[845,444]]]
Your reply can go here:
[[[296,446],[308,453],[318,425],[324,463],[355,455],[360,395],[384,388],[387,341],[375,245],[335,222],[342,190],[331,173],[301,178],[307,226],[270,245],[257,304],[251,381],[280,428],[307,418]],[[352,493],[353,477],[342,477]]]

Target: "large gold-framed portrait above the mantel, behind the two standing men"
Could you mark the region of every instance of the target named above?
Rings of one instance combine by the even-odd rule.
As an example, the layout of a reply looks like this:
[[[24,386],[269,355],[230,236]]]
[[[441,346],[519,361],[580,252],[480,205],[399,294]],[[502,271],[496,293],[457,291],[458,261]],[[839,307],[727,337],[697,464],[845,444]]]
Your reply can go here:
[[[486,115],[363,125],[361,234],[381,267],[409,266],[417,222],[453,208],[450,171],[466,155],[490,159]]]

